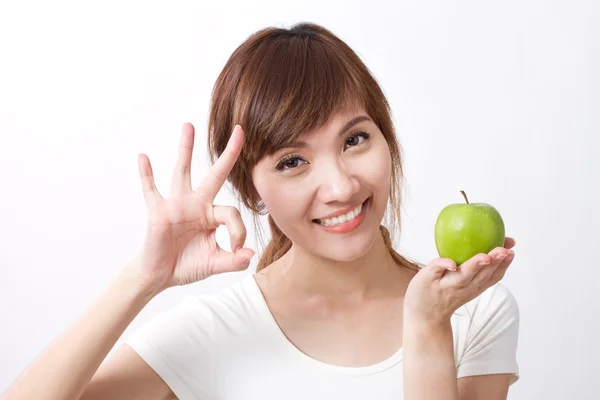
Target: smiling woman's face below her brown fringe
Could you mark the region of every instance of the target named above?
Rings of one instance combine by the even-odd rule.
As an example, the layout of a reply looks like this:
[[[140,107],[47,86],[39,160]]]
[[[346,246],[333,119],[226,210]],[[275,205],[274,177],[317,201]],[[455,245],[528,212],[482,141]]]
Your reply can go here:
[[[340,112],[252,170],[258,195],[294,246],[336,261],[364,255],[390,193],[390,150],[363,109]]]

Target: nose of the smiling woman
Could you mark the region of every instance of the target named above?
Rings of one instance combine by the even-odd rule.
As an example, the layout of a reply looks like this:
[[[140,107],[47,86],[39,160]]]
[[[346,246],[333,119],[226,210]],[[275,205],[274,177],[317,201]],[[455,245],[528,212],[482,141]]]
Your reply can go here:
[[[360,190],[354,173],[339,160],[315,171],[319,183],[318,197],[323,203],[347,202]]]

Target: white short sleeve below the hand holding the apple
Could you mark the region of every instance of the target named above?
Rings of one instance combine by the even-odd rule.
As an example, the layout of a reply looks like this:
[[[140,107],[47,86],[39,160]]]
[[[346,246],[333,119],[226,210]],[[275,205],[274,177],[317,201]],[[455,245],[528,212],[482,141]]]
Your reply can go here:
[[[467,305],[470,326],[458,360],[458,378],[513,374],[519,379],[517,344],[519,308],[513,294],[498,283]]]

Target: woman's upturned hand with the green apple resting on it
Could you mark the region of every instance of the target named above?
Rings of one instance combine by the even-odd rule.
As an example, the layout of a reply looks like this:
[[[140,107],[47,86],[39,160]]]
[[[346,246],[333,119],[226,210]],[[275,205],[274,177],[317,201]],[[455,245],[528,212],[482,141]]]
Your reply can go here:
[[[515,240],[507,237],[504,247],[480,253],[459,268],[448,258],[436,258],[410,281],[404,297],[406,317],[443,323],[462,305],[498,283],[512,263]]]

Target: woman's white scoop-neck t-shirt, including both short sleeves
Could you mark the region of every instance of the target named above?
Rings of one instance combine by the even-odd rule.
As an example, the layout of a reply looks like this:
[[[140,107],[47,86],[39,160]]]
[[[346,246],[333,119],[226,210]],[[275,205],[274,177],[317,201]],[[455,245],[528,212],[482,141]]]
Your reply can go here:
[[[502,284],[452,317],[458,377],[514,374],[519,309]],[[216,294],[189,296],[128,340],[181,400],[399,400],[402,348],[364,367],[320,362],[283,334],[249,274]]]

